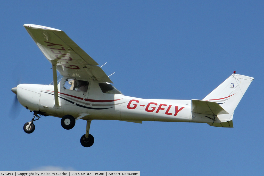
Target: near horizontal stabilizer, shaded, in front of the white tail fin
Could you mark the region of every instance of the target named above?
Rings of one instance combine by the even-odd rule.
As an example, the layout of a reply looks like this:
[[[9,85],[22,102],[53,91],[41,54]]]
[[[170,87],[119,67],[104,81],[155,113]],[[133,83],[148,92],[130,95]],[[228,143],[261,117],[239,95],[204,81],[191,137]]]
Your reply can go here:
[[[192,99],[192,112],[208,115],[228,114],[228,112],[216,102],[195,99]]]

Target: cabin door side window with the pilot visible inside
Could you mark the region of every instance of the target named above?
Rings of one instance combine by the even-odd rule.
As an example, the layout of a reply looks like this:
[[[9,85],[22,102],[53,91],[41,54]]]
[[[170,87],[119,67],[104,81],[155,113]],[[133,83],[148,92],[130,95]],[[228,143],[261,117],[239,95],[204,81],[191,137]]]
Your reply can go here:
[[[88,86],[89,86],[88,81],[67,78],[63,88],[73,91],[87,92]]]

